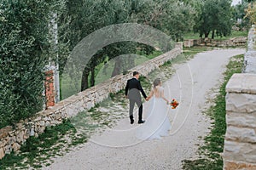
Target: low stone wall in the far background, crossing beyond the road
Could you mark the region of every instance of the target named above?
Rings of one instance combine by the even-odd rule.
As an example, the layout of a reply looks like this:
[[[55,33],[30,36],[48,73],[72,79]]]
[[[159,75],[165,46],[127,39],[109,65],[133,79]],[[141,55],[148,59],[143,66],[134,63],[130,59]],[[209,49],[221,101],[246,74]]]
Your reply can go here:
[[[247,37],[234,37],[229,40],[214,40],[211,38],[189,39],[184,40],[183,46],[191,48],[193,46],[209,46],[209,47],[236,47],[247,44]]]

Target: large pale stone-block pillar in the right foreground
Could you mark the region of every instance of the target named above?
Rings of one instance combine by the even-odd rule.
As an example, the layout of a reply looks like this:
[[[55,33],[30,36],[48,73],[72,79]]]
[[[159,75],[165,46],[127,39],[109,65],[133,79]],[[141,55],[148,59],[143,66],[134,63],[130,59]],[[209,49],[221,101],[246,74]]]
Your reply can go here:
[[[234,74],[226,92],[224,169],[256,169],[256,75]]]

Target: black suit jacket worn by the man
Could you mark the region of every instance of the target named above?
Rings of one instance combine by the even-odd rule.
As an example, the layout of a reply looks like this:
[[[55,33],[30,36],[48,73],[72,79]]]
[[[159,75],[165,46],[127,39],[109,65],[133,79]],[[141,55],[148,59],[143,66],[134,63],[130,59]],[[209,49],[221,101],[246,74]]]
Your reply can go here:
[[[128,94],[129,91],[129,94]],[[131,78],[127,81],[125,87],[125,95],[128,95],[128,99],[141,99],[140,92],[143,94],[143,97],[146,99],[147,95],[145,94],[141,82],[136,78]]]

